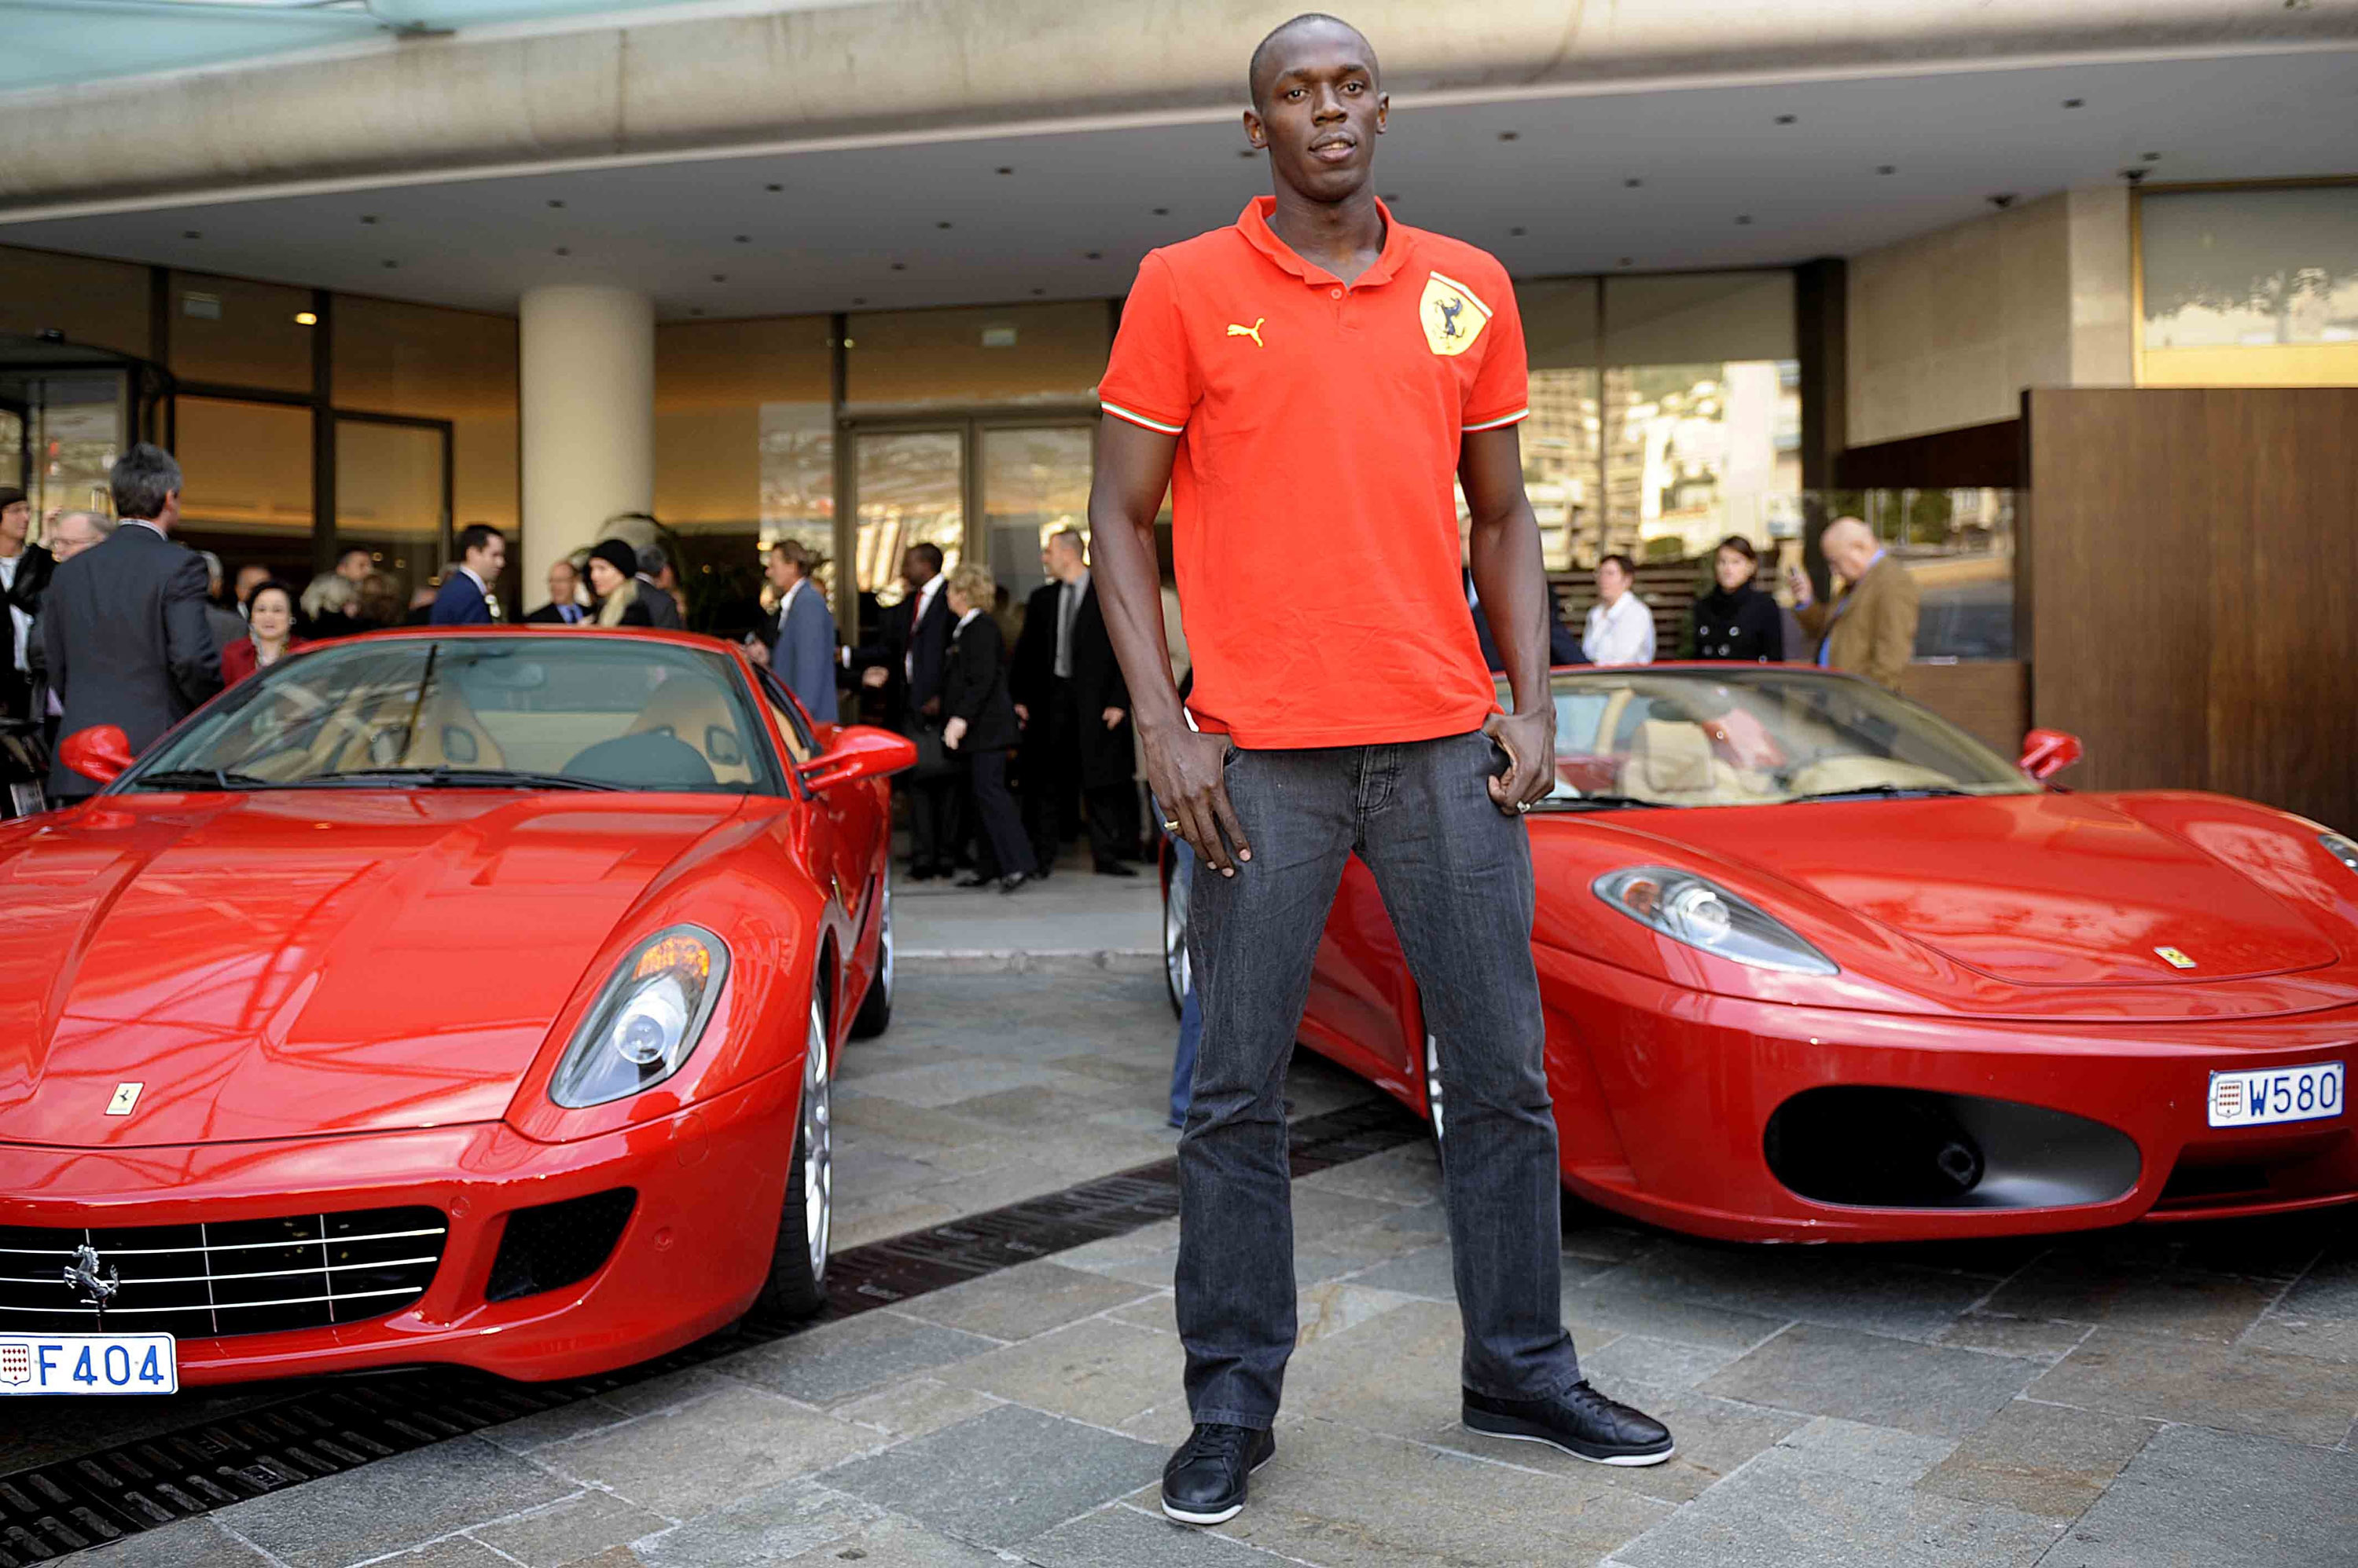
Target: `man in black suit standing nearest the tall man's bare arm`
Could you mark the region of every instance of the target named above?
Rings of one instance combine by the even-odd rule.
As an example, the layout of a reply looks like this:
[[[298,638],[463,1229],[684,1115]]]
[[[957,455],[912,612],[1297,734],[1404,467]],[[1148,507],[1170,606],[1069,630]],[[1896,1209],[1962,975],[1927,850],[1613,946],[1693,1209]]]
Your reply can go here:
[[[1089,858],[1101,877],[1134,877],[1122,865],[1134,797],[1129,776],[1129,686],[1113,658],[1106,613],[1089,582],[1080,533],[1066,528],[1040,552],[1049,582],[1030,597],[1009,691],[1023,717],[1023,809],[1033,858],[1045,872],[1073,837],[1073,806],[1089,809]]]

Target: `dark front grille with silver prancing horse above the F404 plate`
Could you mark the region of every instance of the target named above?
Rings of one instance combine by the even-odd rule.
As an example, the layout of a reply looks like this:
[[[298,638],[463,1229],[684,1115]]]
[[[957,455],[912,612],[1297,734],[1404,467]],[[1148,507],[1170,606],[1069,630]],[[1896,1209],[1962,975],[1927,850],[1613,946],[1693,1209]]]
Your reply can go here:
[[[427,1292],[448,1224],[439,1210],[358,1210],[193,1226],[0,1226],[0,1332],[94,1332],[66,1271],[80,1247],[118,1278],[106,1327],[182,1339],[361,1323]]]

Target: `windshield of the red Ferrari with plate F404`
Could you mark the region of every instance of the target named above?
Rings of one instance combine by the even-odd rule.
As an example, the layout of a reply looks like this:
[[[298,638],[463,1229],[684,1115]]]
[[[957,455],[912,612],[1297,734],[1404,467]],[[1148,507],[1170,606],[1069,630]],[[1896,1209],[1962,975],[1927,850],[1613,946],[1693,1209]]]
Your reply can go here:
[[[233,686],[125,790],[780,792],[719,653],[634,637],[363,637]]]

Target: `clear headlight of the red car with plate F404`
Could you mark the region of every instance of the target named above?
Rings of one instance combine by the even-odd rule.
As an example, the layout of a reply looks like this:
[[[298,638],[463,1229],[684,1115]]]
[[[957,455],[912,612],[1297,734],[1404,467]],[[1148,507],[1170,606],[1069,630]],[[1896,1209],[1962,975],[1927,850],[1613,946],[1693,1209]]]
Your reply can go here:
[[[689,1059],[722,1000],[729,948],[703,927],[656,931],[606,981],[566,1047],[549,1099],[582,1108],[651,1089]]]

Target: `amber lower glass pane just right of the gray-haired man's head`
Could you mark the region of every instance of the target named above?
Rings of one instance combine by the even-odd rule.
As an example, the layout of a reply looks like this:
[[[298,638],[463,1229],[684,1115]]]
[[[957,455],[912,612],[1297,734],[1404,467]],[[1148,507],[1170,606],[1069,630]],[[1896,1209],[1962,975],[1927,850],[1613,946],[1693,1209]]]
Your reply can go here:
[[[297,589],[311,580],[311,410],[179,398],[179,533],[236,578],[269,566]]]

